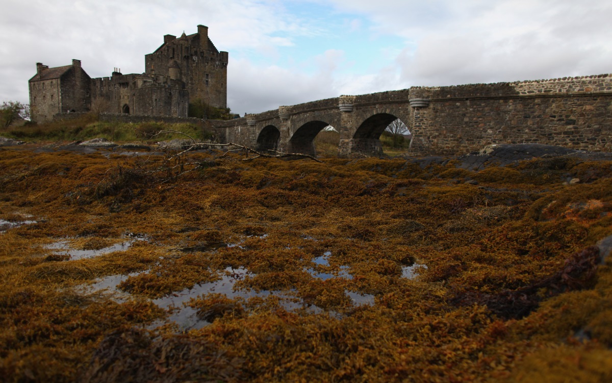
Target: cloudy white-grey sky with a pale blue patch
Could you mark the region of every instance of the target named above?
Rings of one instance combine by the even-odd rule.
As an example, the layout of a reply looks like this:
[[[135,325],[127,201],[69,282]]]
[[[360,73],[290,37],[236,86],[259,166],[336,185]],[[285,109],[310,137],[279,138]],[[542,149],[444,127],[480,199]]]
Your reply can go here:
[[[612,0],[2,0],[0,101],[35,63],[144,72],[163,35],[209,27],[228,106],[259,113],[411,86],[612,73]]]

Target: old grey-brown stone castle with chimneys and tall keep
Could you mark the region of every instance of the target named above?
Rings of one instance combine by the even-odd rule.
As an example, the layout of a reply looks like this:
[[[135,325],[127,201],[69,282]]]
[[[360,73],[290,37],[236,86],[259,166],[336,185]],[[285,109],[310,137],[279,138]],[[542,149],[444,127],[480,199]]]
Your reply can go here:
[[[50,68],[36,63],[29,80],[32,121],[58,113],[105,112],[187,117],[190,100],[227,107],[228,53],[218,51],[208,28],[181,37],[166,34],[163,44],[144,56],[143,74],[91,78],[73,59],[72,65]]]

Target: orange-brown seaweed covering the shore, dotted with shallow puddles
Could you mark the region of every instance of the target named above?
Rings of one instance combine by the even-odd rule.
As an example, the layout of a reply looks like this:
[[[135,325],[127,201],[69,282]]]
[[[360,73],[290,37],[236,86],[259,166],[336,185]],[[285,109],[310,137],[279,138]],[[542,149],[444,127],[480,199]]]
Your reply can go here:
[[[612,235],[609,162],[34,149],[0,151],[5,381],[610,374],[612,260],[590,247]]]

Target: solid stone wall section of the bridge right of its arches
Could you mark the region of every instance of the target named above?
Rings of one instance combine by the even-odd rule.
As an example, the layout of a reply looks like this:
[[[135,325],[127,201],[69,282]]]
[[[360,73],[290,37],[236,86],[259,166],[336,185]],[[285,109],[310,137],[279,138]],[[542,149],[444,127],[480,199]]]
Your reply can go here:
[[[493,143],[612,150],[608,75],[420,89],[429,91],[430,106],[413,113],[414,154],[469,153]]]

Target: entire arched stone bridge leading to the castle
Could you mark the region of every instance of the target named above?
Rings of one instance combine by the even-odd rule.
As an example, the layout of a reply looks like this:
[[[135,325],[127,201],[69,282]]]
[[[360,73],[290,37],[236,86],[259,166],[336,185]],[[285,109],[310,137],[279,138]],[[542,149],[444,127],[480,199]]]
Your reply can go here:
[[[397,118],[412,133],[414,155],[464,154],[492,143],[612,151],[612,75],[412,87],[211,122],[224,142],[313,155],[314,138],[331,125],[340,132],[339,156],[380,156],[379,137]]]

